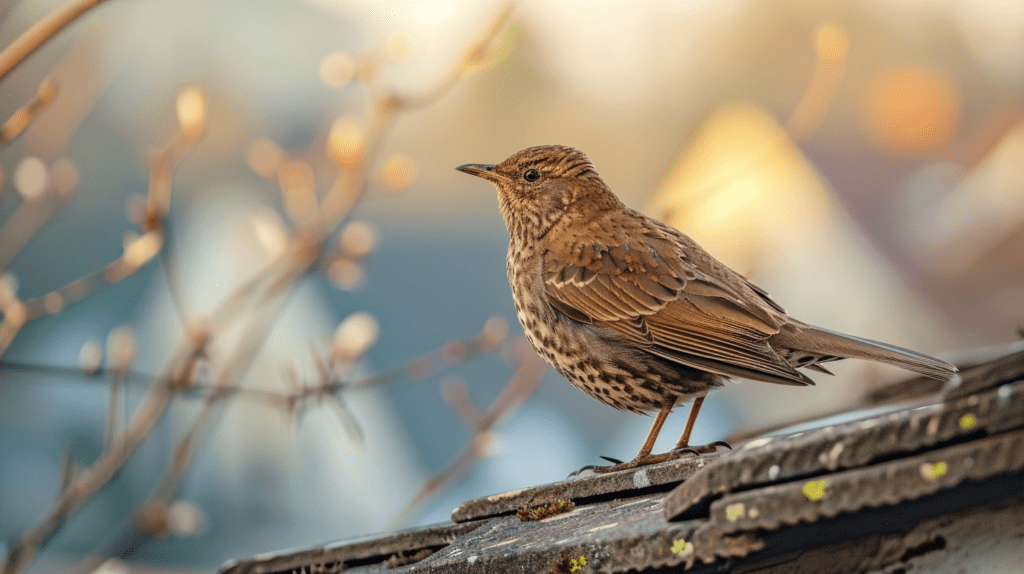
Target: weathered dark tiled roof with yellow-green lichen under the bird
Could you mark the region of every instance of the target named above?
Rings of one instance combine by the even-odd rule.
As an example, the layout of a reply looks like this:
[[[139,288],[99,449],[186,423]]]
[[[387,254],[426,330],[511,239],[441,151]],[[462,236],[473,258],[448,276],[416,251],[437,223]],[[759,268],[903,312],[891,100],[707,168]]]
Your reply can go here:
[[[461,504],[450,523],[222,572],[1011,568],[1024,560],[1022,478],[1016,351],[966,369],[931,404],[496,494]],[[528,509],[539,510],[518,513]]]

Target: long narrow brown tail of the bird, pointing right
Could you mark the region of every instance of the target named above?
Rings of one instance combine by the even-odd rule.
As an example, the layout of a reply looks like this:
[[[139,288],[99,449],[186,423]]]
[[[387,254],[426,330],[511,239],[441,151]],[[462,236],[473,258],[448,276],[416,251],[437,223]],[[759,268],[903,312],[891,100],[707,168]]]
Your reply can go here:
[[[946,381],[956,372],[956,367],[946,361],[895,345],[844,335],[814,325],[801,324],[793,327],[793,329],[783,327],[781,333],[772,338],[772,345],[777,344],[782,348],[822,356],[867,359],[893,364],[940,381]]]

